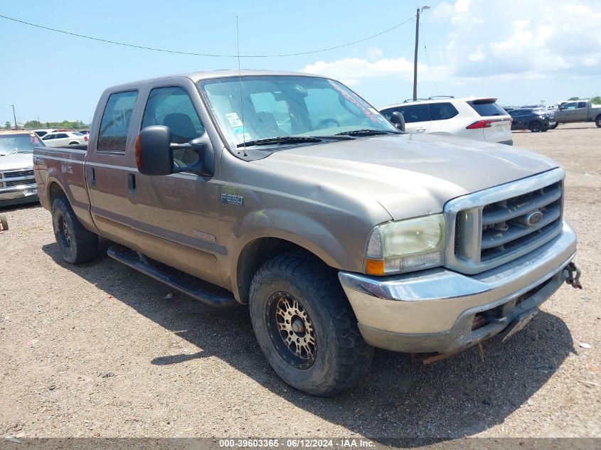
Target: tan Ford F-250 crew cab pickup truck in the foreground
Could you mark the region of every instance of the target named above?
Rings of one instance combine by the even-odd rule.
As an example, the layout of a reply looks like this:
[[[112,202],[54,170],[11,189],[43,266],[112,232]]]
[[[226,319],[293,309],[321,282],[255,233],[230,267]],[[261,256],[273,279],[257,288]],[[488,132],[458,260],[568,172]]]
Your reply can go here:
[[[554,161],[391,121],[326,77],[132,82],[102,94],[87,149],[36,149],[38,193],[67,262],[100,235],[205,304],[248,304],[276,373],[332,395],[374,347],[436,360],[580,285]]]

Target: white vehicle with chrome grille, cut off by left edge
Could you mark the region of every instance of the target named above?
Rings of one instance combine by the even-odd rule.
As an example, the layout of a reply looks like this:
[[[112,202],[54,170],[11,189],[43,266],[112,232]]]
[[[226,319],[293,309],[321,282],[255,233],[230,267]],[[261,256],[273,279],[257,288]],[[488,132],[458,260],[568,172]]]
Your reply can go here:
[[[0,134],[0,207],[38,201],[33,147],[43,145],[32,132]]]

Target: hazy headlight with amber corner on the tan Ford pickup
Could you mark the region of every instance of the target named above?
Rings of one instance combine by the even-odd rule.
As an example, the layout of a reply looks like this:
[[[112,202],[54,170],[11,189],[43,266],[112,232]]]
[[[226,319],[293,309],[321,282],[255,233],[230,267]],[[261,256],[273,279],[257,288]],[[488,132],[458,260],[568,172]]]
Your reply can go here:
[[[442,214],[383,223],[371,230],[365,255],[370,275],[398,274],[442,265],[445,218]]]

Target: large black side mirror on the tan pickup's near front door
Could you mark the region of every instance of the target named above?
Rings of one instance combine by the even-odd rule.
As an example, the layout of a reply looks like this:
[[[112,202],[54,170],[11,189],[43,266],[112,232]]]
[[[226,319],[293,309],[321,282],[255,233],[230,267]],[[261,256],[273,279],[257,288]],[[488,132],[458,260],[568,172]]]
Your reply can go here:
[[[203,176],[213,173],[203,169],[201,160],[206,137],[192,139],[186,144],[171,142],[171,129],[163,125],[151,125],[139,132],[135,144],[136,166],[144,175],[169,175],[178,172],[195,172]],[[198,163],[192,166],[176,166],[174,150],[190,149],[198,154]]]

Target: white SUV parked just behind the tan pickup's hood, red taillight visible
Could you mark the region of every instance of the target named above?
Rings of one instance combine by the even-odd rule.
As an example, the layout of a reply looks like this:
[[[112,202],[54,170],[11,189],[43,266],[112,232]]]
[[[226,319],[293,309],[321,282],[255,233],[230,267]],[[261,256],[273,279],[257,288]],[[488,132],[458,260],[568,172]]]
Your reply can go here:
[[[478,141],[514,144],[511,116],[496,104],[496,98],[464,97],[405,100],[380,112],[390,120],[393,112],[405,119],[405,132],[467,137]]]

